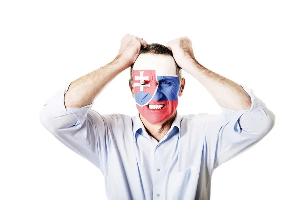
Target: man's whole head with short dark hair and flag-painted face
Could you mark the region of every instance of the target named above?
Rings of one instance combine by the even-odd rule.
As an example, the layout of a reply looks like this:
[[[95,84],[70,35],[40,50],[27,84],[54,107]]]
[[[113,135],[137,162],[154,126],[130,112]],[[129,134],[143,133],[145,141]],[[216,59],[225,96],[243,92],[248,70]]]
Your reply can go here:
[[[161,44],[141,49],[131,66],[129,86],[140,114],[150,123],[162,123],[176,111],[185,79],[172,51]]]

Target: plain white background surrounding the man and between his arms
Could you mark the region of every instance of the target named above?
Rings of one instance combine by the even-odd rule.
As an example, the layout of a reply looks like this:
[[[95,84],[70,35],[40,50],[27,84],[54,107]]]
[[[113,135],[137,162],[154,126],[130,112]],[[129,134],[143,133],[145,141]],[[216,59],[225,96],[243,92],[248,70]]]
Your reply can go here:
[[[65,84],[112,61],[127,33],[164,45],[188,36],[202,65],[253,89],[276,115],[261,142],[214,171],[212,200],[300,199],[296,2],[2,0],[0,199],[106,199],[100,170],[47,132],[38,113]],[[184,76],[179,113],[220,113]],[[128,79],[127,69],[92,109],[134,115]]]

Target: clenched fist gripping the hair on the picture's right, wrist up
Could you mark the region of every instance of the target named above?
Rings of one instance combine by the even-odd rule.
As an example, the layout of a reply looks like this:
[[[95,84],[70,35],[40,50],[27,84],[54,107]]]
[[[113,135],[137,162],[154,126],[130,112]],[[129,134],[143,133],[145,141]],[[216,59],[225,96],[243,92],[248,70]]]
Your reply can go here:
[[[166,47],[173,53],[176,63],[186,72],[196,59],[192,50],[192,42],[188,37],[173,39],[166,44]]]

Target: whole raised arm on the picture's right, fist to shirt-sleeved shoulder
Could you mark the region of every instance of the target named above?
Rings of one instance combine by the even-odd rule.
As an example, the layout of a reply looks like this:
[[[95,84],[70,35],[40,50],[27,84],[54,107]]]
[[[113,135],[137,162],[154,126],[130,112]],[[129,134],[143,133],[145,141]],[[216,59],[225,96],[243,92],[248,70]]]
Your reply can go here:
[[[197,62],[189,38],[174,39],[167,44],[177,64],[195,77],[213,96],[223,113],[198,115],[204,123],[207,162],[211,168],[246,151],[268,134],[275,115],[254,95],[252,89],[214,73]],[[203,116],[203,117],[202,117]]]

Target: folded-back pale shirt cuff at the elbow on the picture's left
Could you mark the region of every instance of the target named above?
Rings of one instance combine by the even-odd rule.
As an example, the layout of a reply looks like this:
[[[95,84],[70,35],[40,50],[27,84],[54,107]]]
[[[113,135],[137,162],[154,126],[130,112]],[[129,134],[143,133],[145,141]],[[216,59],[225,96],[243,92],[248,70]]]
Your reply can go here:
[[[46,101],[44,108],[46,113],[51,118],[62,117],[68,114],[74,114],[77,118],[75,126],[81,126],[87,116],[87,112],[92,107],[93,103],[84,107],[65,107],[64,94],[67,92],[71,82],[58,90],[58,92],[49,100]]]

